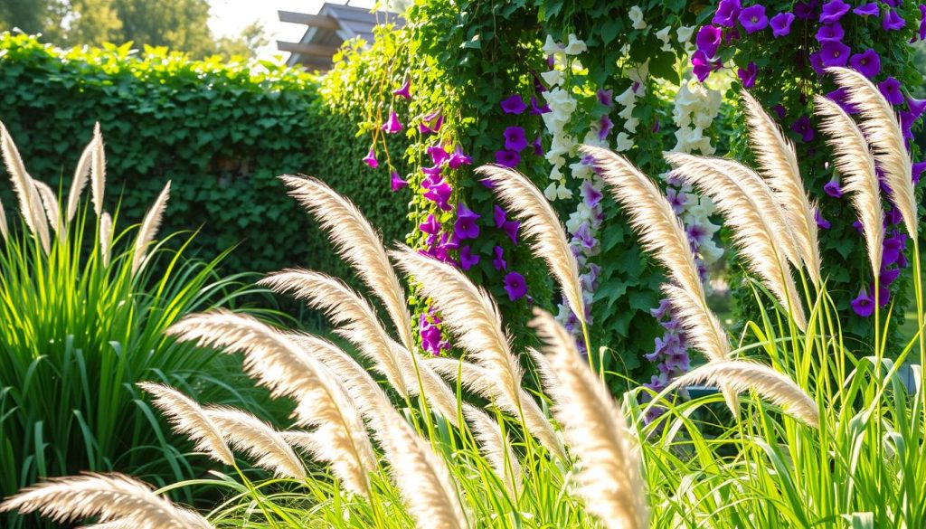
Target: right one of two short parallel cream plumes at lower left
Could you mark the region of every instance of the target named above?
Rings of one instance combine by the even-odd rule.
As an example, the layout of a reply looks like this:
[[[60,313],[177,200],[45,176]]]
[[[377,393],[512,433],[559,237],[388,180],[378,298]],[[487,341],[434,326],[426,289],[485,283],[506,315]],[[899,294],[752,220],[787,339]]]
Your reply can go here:
[[[206,417],[219,427],[233,448],[255,458],[254,464],[280,477],[306,479],[306,469],[293,447],[267,422],[254,415],[224,406],[208,406]]]

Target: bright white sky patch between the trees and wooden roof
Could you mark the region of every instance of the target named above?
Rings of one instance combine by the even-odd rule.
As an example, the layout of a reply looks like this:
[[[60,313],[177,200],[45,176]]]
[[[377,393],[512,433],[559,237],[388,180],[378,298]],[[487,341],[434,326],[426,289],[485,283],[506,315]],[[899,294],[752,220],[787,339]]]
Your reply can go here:
[[[277,50],[277,40],[297,42],[306,26],[285,24],[280,21],[277,11],[296,11],[316,14],[324,0],[209,0],[209,28],[216,36],[237,35],[245,26],[259,19],[267,30],[270,43],[258,53],[261,58],[278,54],[287,55]],[[346,0],[331,0],[332,4],[345,4]],[[373,0],[350,0],[351,6],[373,6]]]

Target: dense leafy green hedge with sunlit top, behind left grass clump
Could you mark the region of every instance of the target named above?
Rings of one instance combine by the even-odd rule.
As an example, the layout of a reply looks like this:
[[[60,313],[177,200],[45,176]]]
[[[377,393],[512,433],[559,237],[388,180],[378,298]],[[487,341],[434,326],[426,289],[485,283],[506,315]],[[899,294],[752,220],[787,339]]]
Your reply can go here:
[[[204,256],[239,245],[226,271],[301,265],[341,274],[324,236],[285,195],[277,176],[302,172],[350,196],[383,230],[404,239],[407,204],[359,161],[350,105],[332,107],[307,73],[265,63],[261,73],[219,60],[192,61],[164,48],[61,51],[0,35],[0,120],[33,177],[67,189],[99,121],[107,197],[121,190],[123,219],[172,180],[166,230],[201,228]],[[358,90],[350,97],[363,97]],[[342,96],[344,97],[344,95]],[[2,175],[6,180],[6,174]],[[7,211],[11,186],[0,186]]]

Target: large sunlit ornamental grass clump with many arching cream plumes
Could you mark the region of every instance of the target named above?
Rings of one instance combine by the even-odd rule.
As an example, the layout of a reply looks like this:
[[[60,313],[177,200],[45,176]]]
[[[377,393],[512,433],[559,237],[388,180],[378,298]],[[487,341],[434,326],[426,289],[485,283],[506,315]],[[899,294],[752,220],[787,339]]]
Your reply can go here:
[[[834,167],[870,240],[882,233],[882,200],[908,208],[908,157],[895,116],[863,77],[832,69],[858,121],[818,101]],[[313,271],[282,271],[265,284],[325,311],[359,357],[310,334],[213,311],[184,318],[169,334],[227,352],[276,395],[294,399],[294,424],[276,430],[246,412],[201,406],[180,392],[144,384],[156,406],[215,460],[232,452],[277,477],[219,475],[228,499],[206,515],[214,527],[922,527],[926,523],[926,444],[919,366],[900,351],[855,359],[840,338],[827,293],[813,206],[796,172],[794,148],[744,94],[759,170],[720,158],[669,154],[674,175],[718,204],[763,308],[739,346],[704,296],[691,247],[656,183],[627,159],[582,147],[629,213],[644,248],[666,268],[664,290],[704,362],[659,394],[642,387],[615,399],[578,352],[574,338],[543,309],[532,327],[542,351],[512,349],[494,299],[457,269],[407,247],[387,252],[369,223],[324,183],[284,177],[321,220],[335,249],[387,309],[383,325],[363,296]],[[880,195],[875,168],[893,171]],[[533,184],[516,171],[480,170],[518,211],[533,247],[550,265],[581,319],[578,278],[562,227]],[[907,210],[916,220],[916,211]],[[906,217],[905,217],[906,219]],[[916,235],[916,225],[908,226]],[[878,256],[870,256],[877,287]],[[426,359],[411,341],[402,271],[440,313],[462,359]],[[920,302],[920,268],[915,267]],[[875,307],[879,321],[890,309]],[[920,310],[920,321],[922,313]],[[587,342],[587,336],[582,337]],[[540,373],[543,391],[521,387],[520,360]],[[912,382],[899,373],[909,369]],[[673,395],[691,384],[704,397]],[[388,392],[387,392],[388,390]],[[471,397],[488,404],[479,409]],[[725,403],[732,422],[699,413]],[[653,407],[663,412],[646,417]],[[720,434],[716,432],[720,431]],[[706,434],[706,432],[715,432]],[[319,466],[323,464],[323,466]],[[232,467],[238,470],[236,462]],[[84,477],[10,498],[0,509],[44,510],[59,518],[116,514],[68,507]],[[115,486],[123,478],[110,478]],[[95,485],[101,485],[94,482]],[[183,484],[172,485],[181,486]],[[106,485],[103,485],[106,488]],[[169,487],[170,488],[170,487]],[[67,491],[67,492],[62,492]],[[137,501],[149,498],[137,491]],[[103,496],[101,496],[102,498]],[[165,512],[184,512],[176,506]],[[144,513],[126,523],[144,523]],[[122,520],[122,519],[120,519]],[[170,522],[173,523],[173,522]],[[173,527],[164,523],[163,527]],[[200,523],[197,521],[197,523]]]

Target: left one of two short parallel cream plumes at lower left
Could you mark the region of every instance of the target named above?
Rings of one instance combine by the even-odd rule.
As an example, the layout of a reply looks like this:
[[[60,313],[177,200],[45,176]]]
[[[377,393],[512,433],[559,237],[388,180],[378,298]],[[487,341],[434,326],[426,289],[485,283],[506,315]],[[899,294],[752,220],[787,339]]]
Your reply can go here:
[[[174,432],[189,437],[195,448],[210,458],[226,465],[234,464],[232,450],[225,444],[219,427],[192,398],[164,384],[140,382],[136,385],[155,397],[155,407],[168,418]]]

